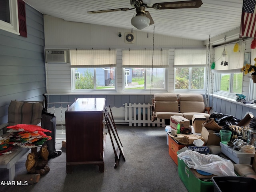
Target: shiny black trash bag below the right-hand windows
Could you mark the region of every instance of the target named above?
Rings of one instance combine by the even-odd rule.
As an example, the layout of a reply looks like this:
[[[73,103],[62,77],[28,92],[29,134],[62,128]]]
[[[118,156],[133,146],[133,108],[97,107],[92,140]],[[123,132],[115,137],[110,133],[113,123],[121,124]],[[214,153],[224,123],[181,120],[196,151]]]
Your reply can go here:
[[[209,118],[214,118],[214,121],[224,127],[225,125],[237,125],[241,120],[228,114],[213,113]]]

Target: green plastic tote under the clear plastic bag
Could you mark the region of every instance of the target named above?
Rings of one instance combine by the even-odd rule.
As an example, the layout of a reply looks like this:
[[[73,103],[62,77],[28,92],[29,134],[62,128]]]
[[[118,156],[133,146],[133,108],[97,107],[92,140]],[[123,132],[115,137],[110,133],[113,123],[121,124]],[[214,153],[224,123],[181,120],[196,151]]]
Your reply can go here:
[[[180,154],[186,148],[182,148],[177,152]],[[213,182],[210,181],[212,176],[204,176],[199,174],[196,170],[188,168],[183,160],[178,158],[178,174],[184,185],[189,192],[213,192],[214,186]],[[205,181],[207,180],[208,181]]]

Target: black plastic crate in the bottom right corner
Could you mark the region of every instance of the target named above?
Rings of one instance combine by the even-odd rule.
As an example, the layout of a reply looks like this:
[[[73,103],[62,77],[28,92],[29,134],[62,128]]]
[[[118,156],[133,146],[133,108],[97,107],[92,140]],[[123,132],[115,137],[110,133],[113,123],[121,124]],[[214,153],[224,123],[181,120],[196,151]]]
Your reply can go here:
[[[214,176],[214,192],[255,192],[256,180],[250,177]]]

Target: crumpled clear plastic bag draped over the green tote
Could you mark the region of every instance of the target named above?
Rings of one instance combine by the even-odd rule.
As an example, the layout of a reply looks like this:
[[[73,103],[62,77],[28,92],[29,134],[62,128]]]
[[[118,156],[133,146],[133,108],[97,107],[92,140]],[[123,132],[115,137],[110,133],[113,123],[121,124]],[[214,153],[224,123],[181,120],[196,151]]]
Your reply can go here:
[[[230,160],[214,154],[201,154],[196,151],[186,150],[178,154],[188,168],[201,170],[216,176],[237,176],[234,165]]]

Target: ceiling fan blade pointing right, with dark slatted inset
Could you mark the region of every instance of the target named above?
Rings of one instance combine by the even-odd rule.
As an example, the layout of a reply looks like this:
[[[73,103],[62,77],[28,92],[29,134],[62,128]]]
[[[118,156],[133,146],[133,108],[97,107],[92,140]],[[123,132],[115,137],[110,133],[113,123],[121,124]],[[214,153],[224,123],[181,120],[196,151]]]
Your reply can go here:
[[[181,9],[181,8],[198,8],[202,5],[202,0],[192,0],[192,1],[175,1],[175,2],[165,2],[165,3],[155,3],[152,5],[154,9]]]

